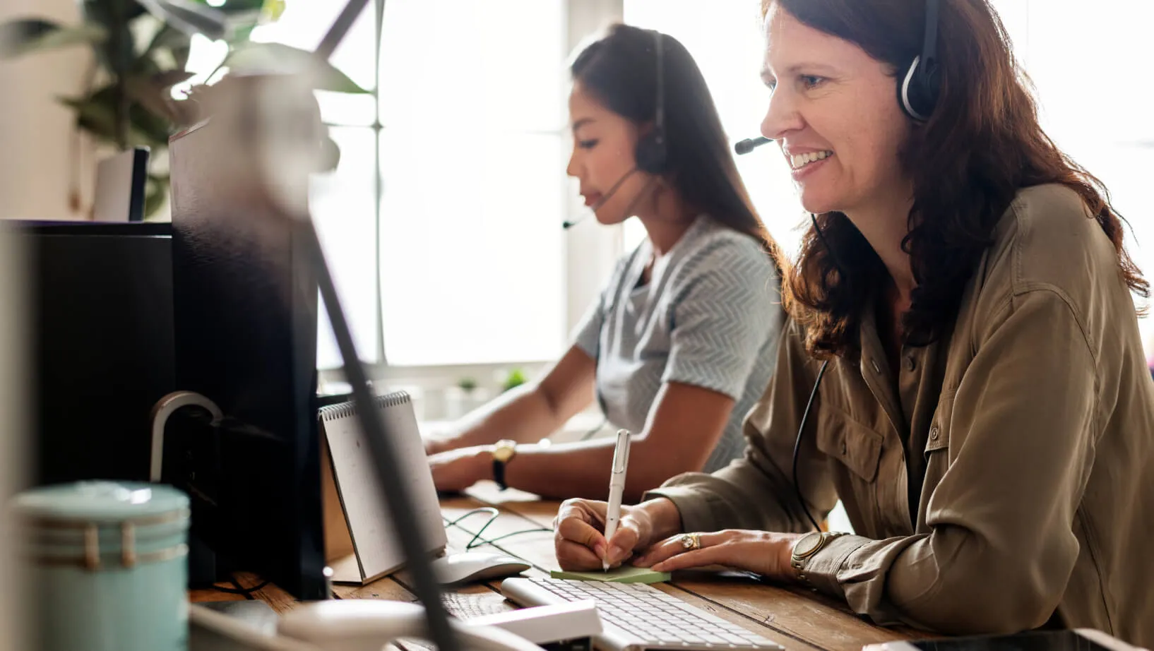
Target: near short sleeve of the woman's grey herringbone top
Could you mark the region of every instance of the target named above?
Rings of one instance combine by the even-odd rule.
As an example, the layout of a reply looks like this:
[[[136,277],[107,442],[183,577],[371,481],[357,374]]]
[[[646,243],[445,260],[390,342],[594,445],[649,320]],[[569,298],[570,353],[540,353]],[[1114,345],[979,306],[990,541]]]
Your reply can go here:
[[[780,301],[773,263],[752,240],[729,235],[685,261],[674,287],[669,360],[662,382],[711,389],[740,401]]]

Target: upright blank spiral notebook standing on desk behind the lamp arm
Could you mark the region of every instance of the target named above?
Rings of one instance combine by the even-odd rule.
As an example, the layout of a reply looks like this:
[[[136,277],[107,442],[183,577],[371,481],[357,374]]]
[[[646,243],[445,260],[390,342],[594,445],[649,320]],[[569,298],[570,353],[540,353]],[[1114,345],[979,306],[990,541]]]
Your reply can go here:
[[[357,405],[322,407],[319,425],[324,441],[322,491],[324,497],[325,561],[337,583],[368,583],[400,569],[405,563],[398,532],[376,479],[368,442],[357,420]],[[425,456],[409,394],[398,391],[376,398],[385,432],[398,454],[418,522],[432,548],[441,553],[448,540],[441,519],[436,487]]]

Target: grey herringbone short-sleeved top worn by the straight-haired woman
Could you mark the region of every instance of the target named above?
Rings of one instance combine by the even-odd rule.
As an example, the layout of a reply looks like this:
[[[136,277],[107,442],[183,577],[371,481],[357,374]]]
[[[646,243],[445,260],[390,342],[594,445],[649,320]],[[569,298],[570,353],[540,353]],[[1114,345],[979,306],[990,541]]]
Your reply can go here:
[[[653,264],[649,239],[622,256],[577,327],[575,344],[597,360],[597,389],[614,427],[645,431],[658,389],[681,382],[736,401],[702,469],[741,457],[741,424],[773,374],[784,313],[773,263],[751,237],[698,217]]]

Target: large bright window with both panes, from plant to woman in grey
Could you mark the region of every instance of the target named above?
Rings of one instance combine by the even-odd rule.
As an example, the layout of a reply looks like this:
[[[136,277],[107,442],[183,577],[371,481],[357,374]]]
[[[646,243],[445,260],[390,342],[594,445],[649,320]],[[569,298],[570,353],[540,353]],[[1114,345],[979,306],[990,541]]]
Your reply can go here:
[[[342,7],[288,2],[253,39],[315,48]],[[572,324],[560,227],[572,194],[567,10],[564,0],[374,2],[334,54],[374,92],[317,92],[340,163],[309,197],[362,359],[562,352]],[[207,73],[224,51],[201,40],[193,69]],[[322,315],[317,366],[339,365]]]

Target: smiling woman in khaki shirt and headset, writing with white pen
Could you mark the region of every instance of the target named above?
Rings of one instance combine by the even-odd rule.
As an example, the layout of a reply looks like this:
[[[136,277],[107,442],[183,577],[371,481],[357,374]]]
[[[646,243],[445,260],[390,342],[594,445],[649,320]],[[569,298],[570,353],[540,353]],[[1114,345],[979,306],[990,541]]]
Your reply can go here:
[[[774,379],[745,458],[653,491],[613,540],[602,503],[568,502],[562,567],[608,549],[879,623],[1154,644],[1148,286],[1106,189],[1042,132],[986,0],[763,10],[762,133],[814,215]],[[839,499],[853,534],[818,526]]]

